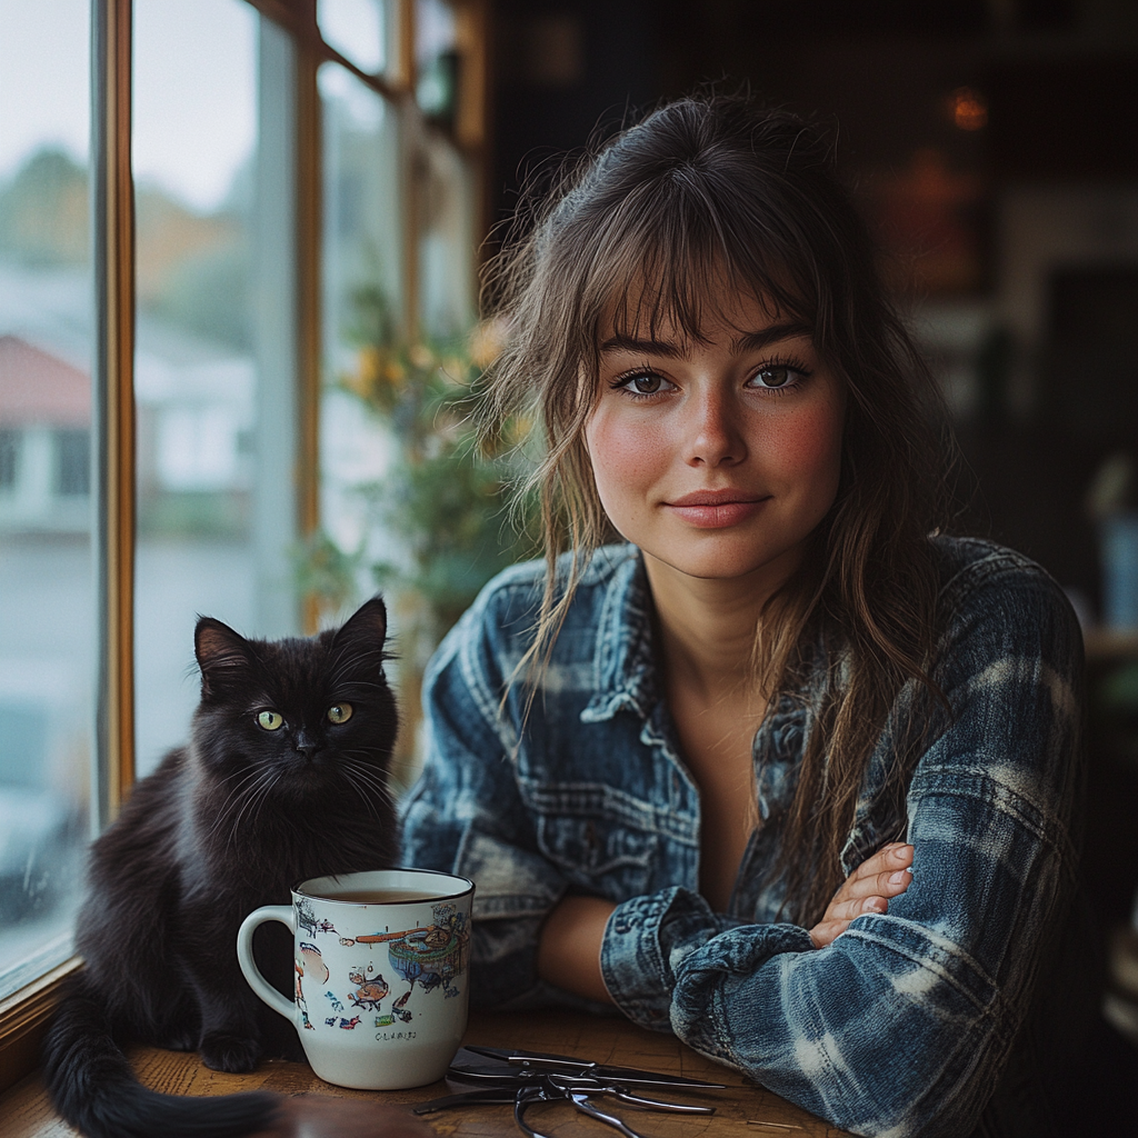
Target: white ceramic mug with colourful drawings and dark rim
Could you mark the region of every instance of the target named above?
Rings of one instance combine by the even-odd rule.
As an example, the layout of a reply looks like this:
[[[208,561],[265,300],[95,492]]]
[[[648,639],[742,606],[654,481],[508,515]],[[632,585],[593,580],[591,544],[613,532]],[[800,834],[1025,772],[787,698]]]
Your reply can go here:
[[[237,934],[245,979],[296,1025],[312,1070],[362,1090],[443,1078],[467,1028],[467,946],[473,882],[428,869],[313,877],[292,905],[265,905]],[[292,930],[296,998],[253,959],[265,921]]]

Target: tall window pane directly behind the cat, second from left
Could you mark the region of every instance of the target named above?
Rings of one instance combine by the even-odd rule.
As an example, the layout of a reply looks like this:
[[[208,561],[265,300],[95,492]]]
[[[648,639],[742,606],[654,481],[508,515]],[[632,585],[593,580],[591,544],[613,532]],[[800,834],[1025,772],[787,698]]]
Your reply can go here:
[[[259,630],[258,18],[242,0],[134,5],[140,776],[187,740],[197,615]]]

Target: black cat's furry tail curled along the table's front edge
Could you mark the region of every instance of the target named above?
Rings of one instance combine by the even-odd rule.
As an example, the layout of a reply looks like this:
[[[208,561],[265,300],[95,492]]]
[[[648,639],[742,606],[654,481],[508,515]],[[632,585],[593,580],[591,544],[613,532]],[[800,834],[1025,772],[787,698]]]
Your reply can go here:
[[[160,1095],[134,1077],[98,993],[82,974],[65,986],[43,1065],[59,1114],[88,1138],[239,1138],[273,1125],[278,1095]]]

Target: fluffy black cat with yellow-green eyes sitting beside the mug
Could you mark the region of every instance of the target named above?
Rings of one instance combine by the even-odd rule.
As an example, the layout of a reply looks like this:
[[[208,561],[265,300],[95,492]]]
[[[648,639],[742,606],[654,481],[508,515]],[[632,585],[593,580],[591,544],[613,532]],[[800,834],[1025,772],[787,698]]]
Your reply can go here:
[[[387,769],[395,700],[384,676],[379,597],[311,640],[249,641],[203,617],[201,702],[189,747],[134,787],[91,851],[76,948],[44,1065],[56,1108],[91,1138],[254,1132],[279,1100],[158,1095],[121,1042],[197,1049],[206,1066],[249,1071],[300,1059],[295,1029],[253,993],[237,930],[289,904],[306,877],[376,869],[397,849]],[[272,922],[254,945],[262,974],[292,993],[292,943]]]

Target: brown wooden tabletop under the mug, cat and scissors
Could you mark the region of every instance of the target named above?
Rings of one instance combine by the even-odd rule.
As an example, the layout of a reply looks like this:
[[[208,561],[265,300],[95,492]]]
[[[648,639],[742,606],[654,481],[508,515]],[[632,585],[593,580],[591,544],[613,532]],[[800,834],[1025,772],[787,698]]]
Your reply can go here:
[[[696,1055],[671,1036],[657,1034],[618,1017],[572,1012],[475,1013],[465,1041],[488,1047],[519,1047],[554,1052],[602,1063],[644,1067],[727,1083],[726,1090],[676,1095],[677,1100],[714,1105],[714,1115],[669,1115],[622,1108],[625,1118],[645,1138],[838,1138],[844,1131],[769,1090],[748,1083],[742,1075]],[[138,1048],[132,1053],[139,1078],[155,1090],[174,1095],[231,1095],[239,1090],[275,1090],[282,1095],[315,1092],[345,1097],[374,1096],[388,1103],[421,1103],[447,1094],[445,1083],[414,1090],[363,1091],[332,1087],[302,1063],[271,1061],[251,1074],[221,1074],[203,1066],[196,1055]],[[671,1097],[670,1094],[665,1097]],[[605,1108],[613,1104],[607,1100]],[[509,1106],[472,1106],[424,1116],[444,1138],[500,1138],[520,1136]],[[583,1118],[569,1105],[535,1106],[527,1121],[556,1138],[615,1138],[616,1131]],[[36,1077],[24,1080],[0,1099],[2,1138],[76,1138],[44,1097]]]

